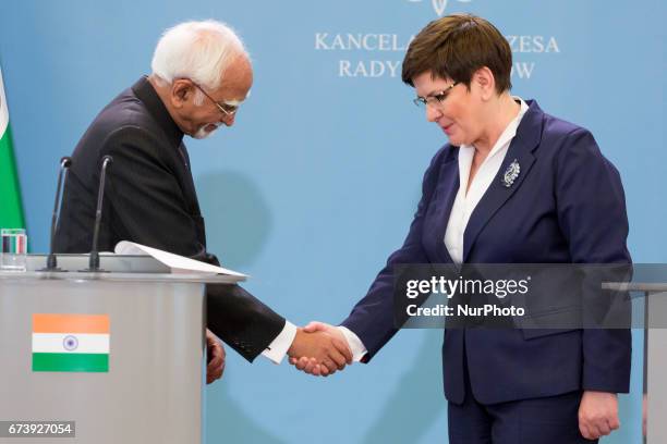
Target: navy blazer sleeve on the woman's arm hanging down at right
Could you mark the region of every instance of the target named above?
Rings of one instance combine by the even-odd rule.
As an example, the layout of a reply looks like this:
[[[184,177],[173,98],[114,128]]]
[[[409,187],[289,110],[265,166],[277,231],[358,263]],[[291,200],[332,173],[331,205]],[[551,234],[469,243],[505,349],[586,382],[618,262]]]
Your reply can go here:
[[[583,128],[568,134],[557,158],[558,221],[574,263],[631,263],[620,175]],[[629,329],[584,329],[582,388],[628,393]]]

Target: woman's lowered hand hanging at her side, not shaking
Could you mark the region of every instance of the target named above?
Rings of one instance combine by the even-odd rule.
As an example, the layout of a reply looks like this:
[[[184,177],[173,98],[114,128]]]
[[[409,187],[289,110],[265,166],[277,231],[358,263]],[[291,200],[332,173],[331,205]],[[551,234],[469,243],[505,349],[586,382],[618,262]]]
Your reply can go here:
[[[585,391],[579,405],[579,431],[583,437],[597,440],[619,427],[616,393]]]

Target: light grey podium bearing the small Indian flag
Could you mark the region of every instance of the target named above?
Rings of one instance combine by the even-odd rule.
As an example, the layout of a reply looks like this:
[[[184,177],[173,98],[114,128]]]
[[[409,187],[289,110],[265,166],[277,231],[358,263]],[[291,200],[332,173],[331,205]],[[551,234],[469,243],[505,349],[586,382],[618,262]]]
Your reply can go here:
[[[0,272],[0,420],[73,421],[75,440],[26,444],[201,443],[205,284],[242,279],[170,274],[149,257],[101,256],[104,273],[35,271],[45,263]]]

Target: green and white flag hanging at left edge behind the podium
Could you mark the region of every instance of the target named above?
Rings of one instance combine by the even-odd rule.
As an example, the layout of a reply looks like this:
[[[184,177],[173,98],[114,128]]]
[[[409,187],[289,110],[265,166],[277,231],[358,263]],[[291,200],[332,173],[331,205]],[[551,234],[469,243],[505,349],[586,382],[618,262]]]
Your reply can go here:
[[[19,175],[9,126],[9,110],[2,71],[0,71],[0,227],[23,229],[24,226]]]

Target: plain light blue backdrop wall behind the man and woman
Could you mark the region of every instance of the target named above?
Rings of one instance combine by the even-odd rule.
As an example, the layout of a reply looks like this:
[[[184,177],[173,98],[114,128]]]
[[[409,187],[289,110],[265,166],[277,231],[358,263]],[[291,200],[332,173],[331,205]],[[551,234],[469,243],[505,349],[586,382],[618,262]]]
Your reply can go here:
[[[255,87],[233,128],[189,143],[209,248],[252,274],[247,288],[292,322],[340,321],[401,244],[423,171],[445,143],[386,64],[402,60],[442,7],[485,16],[507,36],[541,36],[543,49],[555,39],[549,52],[533,37],[514,42],[516,62],[532,71],[514,73],[513,91],[592,130],[621,172],[634,259],[666,262],[657,0],[2,2],[0,58],[32,249],[47,249],[58,159],[149,72],[166,27],[213,17],[244,37]],[[328,34],[319,44],[318,33]],[[396,35],[398,48],[336,47],[335,35],[348,33]],[[340,76],[341,61],[351,73],[364,63],[368,76]],[[373,76],[378,62],[385,72]],[[263,358],[251,366],[230,351],[225,379],[207,390],[208,442],[446,442],[440,337],[402,332],[372,365],[329,379]],[[622,429],[608,443],[640,442],[639,335],[634,349],[633,394],[621,397]]]

